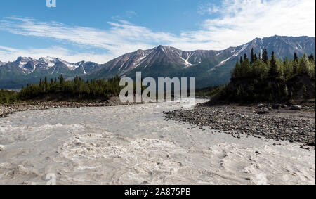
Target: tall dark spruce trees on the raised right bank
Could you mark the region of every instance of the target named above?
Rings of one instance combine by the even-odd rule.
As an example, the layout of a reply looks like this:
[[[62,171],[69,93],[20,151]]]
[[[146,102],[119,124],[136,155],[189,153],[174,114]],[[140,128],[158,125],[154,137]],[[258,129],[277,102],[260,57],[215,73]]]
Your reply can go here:
[[[303,80],[304,79],[304,80]],[[251,50],[237,61],[231,83],[220,93],[220,100],[242,103],[287,101],[291,98],[315,97],[315,58],[304,54],[298,58],[269,58],[264,49],[258,56]]]

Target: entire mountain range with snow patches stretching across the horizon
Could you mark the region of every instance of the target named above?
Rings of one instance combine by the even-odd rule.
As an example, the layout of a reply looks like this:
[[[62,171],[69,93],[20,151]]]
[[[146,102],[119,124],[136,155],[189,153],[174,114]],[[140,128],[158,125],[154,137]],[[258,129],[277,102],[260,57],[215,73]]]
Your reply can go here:
[[[69,63],[60,58],[19,57],[14,62],[0,61],[0,88],[18,89],[27,83],[35,83],[39,78],[55,78],[60,74],[65,78],[79,75],[84,79],[110,78],[114,75],[135,77],[142,72],[143,77],[196,77],[197,88],[227,84],[230,72],[240,56],[251,49],[259,54],[267,49],[275,51],[278,58],[291,58],[294,53],[315,54],[315,37],[274,36],[256,38],[247,44],[230,47],[223,51],[181,51],[170,46],[138,50],[110,60],[105,64],[81,61]]]

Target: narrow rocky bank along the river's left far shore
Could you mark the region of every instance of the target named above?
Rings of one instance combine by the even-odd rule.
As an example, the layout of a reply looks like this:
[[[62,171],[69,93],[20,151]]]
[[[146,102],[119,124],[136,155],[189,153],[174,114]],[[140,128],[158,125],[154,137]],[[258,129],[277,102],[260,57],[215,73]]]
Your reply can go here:
[[[112,97],[104,102],[66,102],[66,101],[34,101],[32,103],[19,103],[13,105],[0,105],[0,118],[7,117],[11,113],[27,110],[46,110],[51,108],[80,108],[103,107],[114,105],[131,105],[136,103],[121,103],[119,97]]]

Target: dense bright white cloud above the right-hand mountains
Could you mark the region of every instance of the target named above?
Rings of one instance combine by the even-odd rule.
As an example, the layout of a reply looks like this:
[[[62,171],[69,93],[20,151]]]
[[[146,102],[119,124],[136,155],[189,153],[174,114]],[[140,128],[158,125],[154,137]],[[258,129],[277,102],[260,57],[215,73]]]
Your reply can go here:
[[[223,0],[220,18],[205,20],[202,29],[182,32],[173,46],[185,49],[225,49],[256,37],[315,37],[314,0]]]

